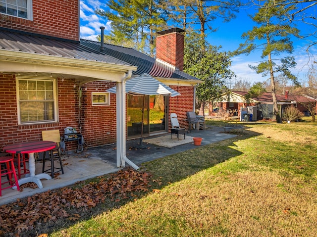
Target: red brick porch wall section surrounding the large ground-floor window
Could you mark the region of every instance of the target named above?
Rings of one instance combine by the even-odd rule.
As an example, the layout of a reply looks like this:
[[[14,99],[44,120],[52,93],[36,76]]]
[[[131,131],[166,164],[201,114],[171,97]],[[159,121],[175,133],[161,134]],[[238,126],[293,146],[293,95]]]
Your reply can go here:
[[[16,83],[14,75],[0,74],[0,147],[15,142],[42,140],[42,130],[59,129],[64,134],[67,126],[78,128],[78,91],[73,80],[58,79],[59,122],[36,125],[18,125]],[[75,142],[69,143],[73,149]]]

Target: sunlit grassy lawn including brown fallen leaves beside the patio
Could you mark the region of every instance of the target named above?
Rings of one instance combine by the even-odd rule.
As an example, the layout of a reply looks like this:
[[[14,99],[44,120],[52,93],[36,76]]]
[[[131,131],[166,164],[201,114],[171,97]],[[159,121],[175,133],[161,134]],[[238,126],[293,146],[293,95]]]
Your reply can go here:
[[[317,123],[243,125],[242,135],[143,164],[141,173],[3,205],[0,236],[316,236]]]

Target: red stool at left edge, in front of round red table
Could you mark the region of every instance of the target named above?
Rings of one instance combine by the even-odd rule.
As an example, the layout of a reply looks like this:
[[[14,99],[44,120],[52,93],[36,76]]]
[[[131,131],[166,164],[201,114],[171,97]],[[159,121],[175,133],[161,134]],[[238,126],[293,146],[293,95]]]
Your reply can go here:
[[[1,179],[0,196],[2,196],[2,190],[12,188],[13,186],[16,186],[16,189],[18,191],[20,190],[18,179],[15,173],[13,157],[10,157],[10,156],[0,157],[0,173],[1,173],[1,178],[2,176],[7,177],[7,181],[2,182],[2,179]],[[12,177],[12,174],[13,174],[13,177]],[[12,178],[14,178],[14,181]],[[9,186],[2,188],[2,185],[5,185],[5,184],[9,184]]]

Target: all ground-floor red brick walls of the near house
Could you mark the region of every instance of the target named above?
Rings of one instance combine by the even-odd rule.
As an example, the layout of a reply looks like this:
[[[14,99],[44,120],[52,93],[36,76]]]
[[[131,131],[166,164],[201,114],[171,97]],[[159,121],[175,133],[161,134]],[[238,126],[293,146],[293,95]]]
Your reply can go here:
[[[62,136],[64,128],[68,126],[81,132],[85,143],[89,146],[116,142],[116,95],[110,94],[110,105],[92,106],[91,104],[92,92],[106,92],[106,89],[115,86],[115,83],[93,82],[83,85],[81,109],[78,84],[74,80],[60,78],[57,79],[57,84],[59,121],[39,125],[18,125],[15,76],[0,74],[0,147],[15,142],[42,140],[43,130],[58,129]],[[178,86],[171,88],[181,95],[169,98],[169,114],[176,113],[181,127],[187,127],[188,123],[182,119],[187,118],[187,111],[193,111],[194,88]],[[168,121],[170,129],[170,119]],[[67,147],[72,150],[76,149],[76,145],[76,142],[69,142]]]

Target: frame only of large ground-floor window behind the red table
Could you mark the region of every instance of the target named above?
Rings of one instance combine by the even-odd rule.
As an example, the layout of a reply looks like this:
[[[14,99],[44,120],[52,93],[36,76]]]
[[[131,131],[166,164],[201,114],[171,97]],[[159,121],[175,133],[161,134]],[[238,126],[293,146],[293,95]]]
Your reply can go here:
[[[29,81],[52,81],[53,82],[53,119],[50,120],[41,120],[41,121],[28,121],[21,122],[21,113],[20,113],[20,93],[19,93],[19,80],[29,80]],[[57,97],[57,82],[55,78],[45,78],[45,77],[16,77],[16,103],[17,103],[17,113],[18,113],[18,125],[31,125],[31,124],[47,124],[55,123],[58,121],[58,97]]]

